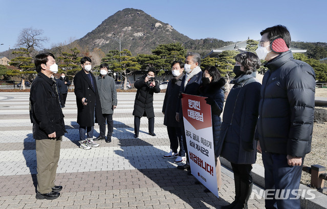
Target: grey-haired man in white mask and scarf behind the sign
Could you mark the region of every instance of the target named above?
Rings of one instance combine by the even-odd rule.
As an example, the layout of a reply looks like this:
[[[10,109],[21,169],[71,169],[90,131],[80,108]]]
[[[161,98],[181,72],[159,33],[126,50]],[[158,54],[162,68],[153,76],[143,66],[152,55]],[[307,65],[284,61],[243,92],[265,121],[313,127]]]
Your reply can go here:
[[[191,94],[191,95],[199,95],[199,87],[202,83],[202,70],[200,68],[201,57],[198,53],[189,52],[186,54],[184,70],[186,74],[183,76],[180,93]],[[180,98],[181,94],[180,94]],[[176,120],[181,122],[181,131],[182,131],[182,143],[184,144],[184,152],[180,153],[180,156],[176,158],[175,163],[182,163],[186,160],[187,146],[186,146],[186,138],[185,138],[185,129],[183,122],[183,114],[182,114],[182,105],[181,99],[177,104],[176,108]],[[181,142],[180,142],[181,143]],[[186,157],[185,157],[186,154]],[[189,169],[190,166],[188,164],[188,160],[185,165],[177,166],[178,169]]]

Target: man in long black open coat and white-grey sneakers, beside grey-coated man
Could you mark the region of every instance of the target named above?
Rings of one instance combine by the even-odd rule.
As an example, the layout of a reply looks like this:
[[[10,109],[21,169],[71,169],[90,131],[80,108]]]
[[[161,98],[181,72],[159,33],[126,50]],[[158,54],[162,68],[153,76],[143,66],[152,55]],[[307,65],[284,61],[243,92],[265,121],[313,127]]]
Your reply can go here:
[[[93,141],[94,119],[102,123],[102,110],[97,82],[91,72],[90,57],[81,58],[82,70],[74,77],[75,95],[77,103],[77,123],[79,124],[79,148],[90,150],[99,147]],[[86,133],[86,137],[85,137]]]

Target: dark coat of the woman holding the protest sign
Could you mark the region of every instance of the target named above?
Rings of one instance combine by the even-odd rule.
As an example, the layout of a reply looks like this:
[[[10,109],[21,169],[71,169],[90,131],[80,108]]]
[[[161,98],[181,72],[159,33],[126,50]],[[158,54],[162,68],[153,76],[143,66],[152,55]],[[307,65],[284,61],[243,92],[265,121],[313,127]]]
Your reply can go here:
[[[210,82],[207,85],[201,85],[199,88],[200,95],[208,97],[212,99],[214,102],[211,105],[211,119],[212,119],[212,131],[213,131],[213,148],[215,156],[219,156],[219,135],[221,130],[221,113],[223,112],[224,108],[224,100],[225,100],[225,79],[221,78],[216,82]]]

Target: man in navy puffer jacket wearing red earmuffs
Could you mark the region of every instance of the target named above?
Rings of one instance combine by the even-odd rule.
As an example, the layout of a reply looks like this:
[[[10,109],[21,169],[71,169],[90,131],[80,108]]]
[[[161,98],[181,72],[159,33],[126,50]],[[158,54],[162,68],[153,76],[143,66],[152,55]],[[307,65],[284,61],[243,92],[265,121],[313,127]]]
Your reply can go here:
[[[265,199],[266,208],[300,208],[294,194],[304,156],[311,151],[315,72],[306,62],[293,59],[285,26],[260,34],[256,53],[269,69],[263,78],[257,123],[257,149],[263,154],[266,190],[273,197]],[[283,198],[284,194],[290,195]]]

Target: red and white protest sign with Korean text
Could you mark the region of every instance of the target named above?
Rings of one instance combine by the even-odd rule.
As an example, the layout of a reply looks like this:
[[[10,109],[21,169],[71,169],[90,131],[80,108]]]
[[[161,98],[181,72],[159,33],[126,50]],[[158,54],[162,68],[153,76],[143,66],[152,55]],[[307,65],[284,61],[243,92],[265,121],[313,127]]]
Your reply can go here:
[[[206,97],[183,94],[182,110],[192,175],[219,197],[215,170],[211,106]]]

